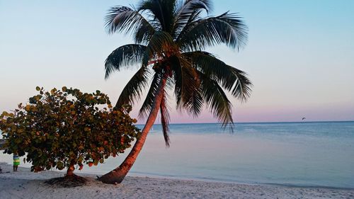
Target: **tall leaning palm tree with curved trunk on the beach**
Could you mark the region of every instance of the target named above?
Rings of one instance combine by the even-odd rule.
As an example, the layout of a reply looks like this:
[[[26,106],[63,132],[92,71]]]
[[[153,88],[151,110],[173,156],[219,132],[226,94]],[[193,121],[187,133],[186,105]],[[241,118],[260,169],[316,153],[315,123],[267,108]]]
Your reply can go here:
[[[245,72],[225,64],[205,49],[225,44],[239,50],[246,44],[248,29],[235,13],[208,16],[210,10],[210,0],[145,0],[137,8],[115,6],[108,11],[108,33],[132,33],[135,44],[118,47],[108,56],[105,79],[115,71],[139,67],[116,106],[134,104],[148,86],[149,91],[139,110],[139,116],[147,118],[141,135],[125,161],[99,178],[104,183],[123,180],[159,113],[169,147],[167,98],[172,91],[178,110],[187,110],[196,117],[205,105],[223,127],[232,127],[232,103],[224,91],[244,101],[249,97],[251,81]]]

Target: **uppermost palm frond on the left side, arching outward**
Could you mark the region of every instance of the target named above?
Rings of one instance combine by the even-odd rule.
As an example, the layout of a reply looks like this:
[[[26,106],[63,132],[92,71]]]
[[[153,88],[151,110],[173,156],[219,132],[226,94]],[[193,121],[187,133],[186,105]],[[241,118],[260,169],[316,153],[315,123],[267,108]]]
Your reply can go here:
[[[136,43],[146,43],[154,34],[154,27],[138,11],[127,6],[115,6],[105,16],[105,28],[109,34],[116,31],[135,33]]]

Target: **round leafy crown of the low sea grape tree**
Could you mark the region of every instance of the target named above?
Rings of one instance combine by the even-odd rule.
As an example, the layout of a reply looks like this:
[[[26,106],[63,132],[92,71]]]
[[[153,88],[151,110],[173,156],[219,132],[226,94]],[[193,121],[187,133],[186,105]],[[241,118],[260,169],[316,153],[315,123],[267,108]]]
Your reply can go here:
[[[31,171],[82,169],[103,163],[131,146],[139,135],[130,106],[113,108],[107,95],[63,87],[45,91],[11,113],[0,115],[4,153],[25,156]]]

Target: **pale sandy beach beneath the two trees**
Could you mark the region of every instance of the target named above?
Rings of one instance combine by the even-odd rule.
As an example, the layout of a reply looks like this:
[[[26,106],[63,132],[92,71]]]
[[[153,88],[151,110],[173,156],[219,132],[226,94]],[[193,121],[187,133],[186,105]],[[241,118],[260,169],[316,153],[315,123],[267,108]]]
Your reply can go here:
[[[63,176],[62,172],[42,171],[0,163],[0,198],[354,198],[354,189],[299,188],[274,185],[211,183],[176,179],[130,177],[121,184],[108,185],[89,178],[86,186],[61,188],[47,185],[45,180]],[[4,173],[11,171],[10,173]]]

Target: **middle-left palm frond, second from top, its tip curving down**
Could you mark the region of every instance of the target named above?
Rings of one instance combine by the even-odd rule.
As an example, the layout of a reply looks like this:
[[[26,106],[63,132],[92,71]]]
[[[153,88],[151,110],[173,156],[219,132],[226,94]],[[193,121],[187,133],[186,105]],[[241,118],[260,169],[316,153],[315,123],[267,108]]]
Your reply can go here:
[[[130,67],[141,64],[147,49],[144,45],[122,45],[108,55],[105,59],[105,79],[108,79],[114,71],[120,71],[122,67]]]

